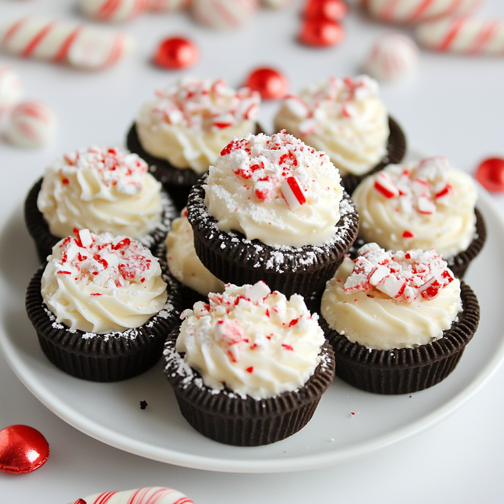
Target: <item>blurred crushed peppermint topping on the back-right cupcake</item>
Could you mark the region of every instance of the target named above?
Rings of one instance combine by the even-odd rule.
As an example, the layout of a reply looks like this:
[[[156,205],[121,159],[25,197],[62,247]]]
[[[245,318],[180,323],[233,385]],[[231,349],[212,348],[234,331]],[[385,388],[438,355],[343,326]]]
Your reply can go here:
[[[288,95],[284,104],[294,117],[301,120],[299,132],[310,135],[326,117],[355,117],[358,113],[355,103],[374,98],[378,93],[378,83],[367,75],[355,79],[329,77],[308,86],[299,95]]]

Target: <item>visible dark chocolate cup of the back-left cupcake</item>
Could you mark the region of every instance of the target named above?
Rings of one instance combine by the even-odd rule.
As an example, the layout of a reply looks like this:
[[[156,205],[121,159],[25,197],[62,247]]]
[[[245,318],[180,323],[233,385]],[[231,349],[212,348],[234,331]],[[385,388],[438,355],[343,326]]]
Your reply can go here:
[[[256,135],[264,133],[259,123],[256,123]],[[152,156],[144,150],[138,138],[137,125],[134,122],[126,139],[128,149],[138,154],[149,165],[149,172],[159,180],[171,196],[177,210],[187,205],[191,187],[198,182],[200,175],[192,168],[176,168],[166,159]]]

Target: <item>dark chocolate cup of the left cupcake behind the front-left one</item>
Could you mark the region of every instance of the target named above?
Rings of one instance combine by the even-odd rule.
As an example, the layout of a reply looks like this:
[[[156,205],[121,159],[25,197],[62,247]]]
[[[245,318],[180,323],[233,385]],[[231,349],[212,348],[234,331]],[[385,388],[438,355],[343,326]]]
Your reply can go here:
[[[51,234],[49,224],[47,224],[42,212],[37,207],[37,198],[42,187],[42,180],[43,178],[37,180],[28,193],[25,200],[24,217],[28,232],[35,241],[39,261],[43,264],[46,262],[47,256],[51,254],[52,247],[61,238]],[[159,223],[150,233],[138,239],[152,251],[155,251],[159,243],[166,238],[166,234],[171,228],[171,221],[178,216],[171,197],[164,189],[161,190],[161,205],[163,209]],[[93,230],[91,229],[91,231]]]

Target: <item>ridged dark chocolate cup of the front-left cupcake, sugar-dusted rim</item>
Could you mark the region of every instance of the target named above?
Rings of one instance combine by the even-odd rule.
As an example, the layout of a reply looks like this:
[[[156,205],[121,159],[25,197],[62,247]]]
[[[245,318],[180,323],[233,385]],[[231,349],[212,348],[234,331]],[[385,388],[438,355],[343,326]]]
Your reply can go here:
[[[143,326],[122,333],[91,334],[70,331],[55,321],[40,293],[44,268],[39,268],[28,285],[26,312],[42,351],[55,366],[83,380],[116,382],[132,378],[157,362],[166,335],[180,313],[178,287],[171,276],[163,272],[168,284],[165,306]]]

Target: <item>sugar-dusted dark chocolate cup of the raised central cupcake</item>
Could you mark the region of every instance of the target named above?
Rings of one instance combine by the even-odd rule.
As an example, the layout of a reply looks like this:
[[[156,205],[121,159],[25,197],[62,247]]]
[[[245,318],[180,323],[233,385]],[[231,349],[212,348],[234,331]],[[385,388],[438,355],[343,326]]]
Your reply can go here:
[[[195,184],[187,202],[187,219],[194,232],[196,254],[203,265],[224,283],[255,284],[263,280],[272,290],[287,297],[300,294],[314,309],[326,281],[343,261],[357,237],[359,216],[349,196],[340,203],[338,231],[322,245],[273,247],[258,239],[247,240],[239,232],[226,233],[205,206],[207,181],[204,174]]]

